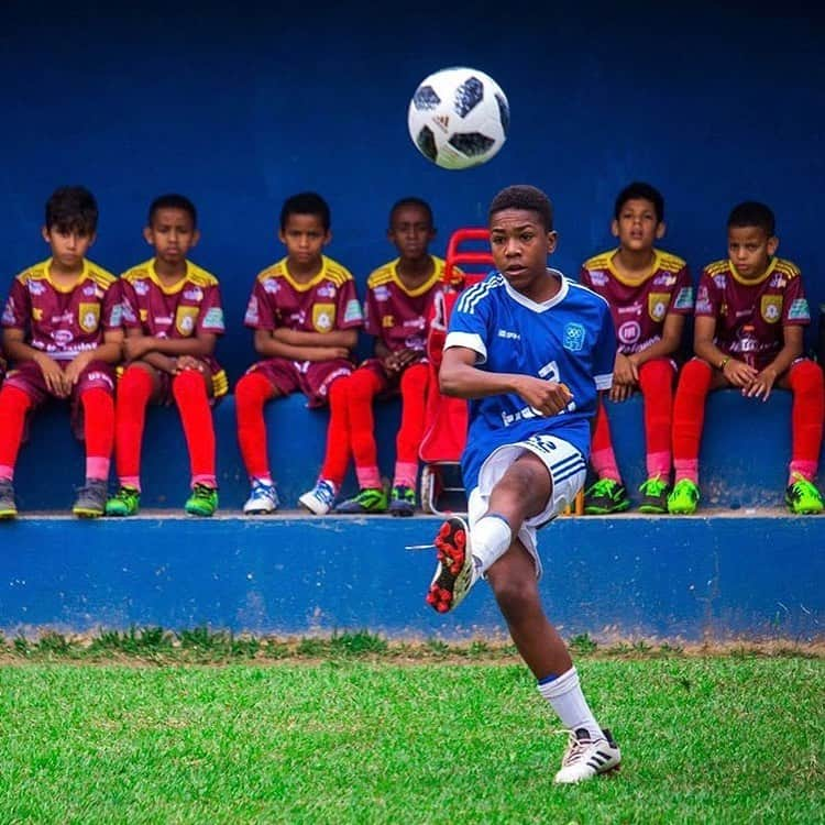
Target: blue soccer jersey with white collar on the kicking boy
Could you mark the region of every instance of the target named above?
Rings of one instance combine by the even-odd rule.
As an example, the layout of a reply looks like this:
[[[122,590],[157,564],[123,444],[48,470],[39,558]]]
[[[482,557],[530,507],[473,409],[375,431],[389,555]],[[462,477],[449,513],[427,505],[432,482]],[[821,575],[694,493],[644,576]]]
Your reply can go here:
[[[609,389],[616,355],[610,309],[600,295],[565,278],[559,293],[536,304],[516,292],[501,273],[464,292],[450,316],[444,349],[476,353],[476,367],[556,381],[573,395],[568,408],[541,416],[515,394],[470,402],[470,426],[461,458],[464,486],[477,485],[485,459],[502,444],[552,433],[590,455],[591,419],[600,389]]]

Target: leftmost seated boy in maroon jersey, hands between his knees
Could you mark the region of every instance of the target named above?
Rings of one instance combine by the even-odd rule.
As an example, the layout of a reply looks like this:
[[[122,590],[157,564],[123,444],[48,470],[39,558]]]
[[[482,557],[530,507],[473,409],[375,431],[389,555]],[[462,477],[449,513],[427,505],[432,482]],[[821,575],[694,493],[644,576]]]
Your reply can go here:
[[[14,279],[3,310],[11,370],[0,389],[0,518],[18,514],[12,481],[29,413],[48,398],[72,406],[86,443],[86,484],[73,513],[103,515],[114,431],[114,372],[123,332],[116,278],[86,258],[98,207],[81,186],[54,191],[43,238],[52,257]]]

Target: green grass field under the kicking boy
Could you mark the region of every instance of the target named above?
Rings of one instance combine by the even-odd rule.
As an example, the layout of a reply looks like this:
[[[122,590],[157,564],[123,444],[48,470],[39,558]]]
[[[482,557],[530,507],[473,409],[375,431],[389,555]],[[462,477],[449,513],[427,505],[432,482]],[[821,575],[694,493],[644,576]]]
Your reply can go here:
[[[825,821],[825,659],[579,656],[625,761],[557,788],[565,739],[515,660],[436,644],[425,656],[449,658],[402,659],[343,636],[326,661],[245,648],[221,667],[87,663],[54,638],[37,652],[53,661],[25,662],[7,645],[0,822]]]

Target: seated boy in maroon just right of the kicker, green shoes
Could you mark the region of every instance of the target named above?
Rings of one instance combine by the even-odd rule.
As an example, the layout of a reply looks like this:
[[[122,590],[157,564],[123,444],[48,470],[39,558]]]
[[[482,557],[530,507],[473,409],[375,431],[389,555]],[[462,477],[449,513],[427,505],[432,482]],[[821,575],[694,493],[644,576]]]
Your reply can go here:
[[[610,305],[616,364],[609,398],[641,392],[648,480],[642,513],[667,513],[671,473],[671,418],[684,318],[693,310],[693,286],[681,257],[657,250],[664,235],[664,198],[649,184],[632,183],[616,198],[612,231],[617,250],[590,258],[580,280]],[[604,404],[600,402],[591,464],[597,481],[585,493],[587,514],[620,513],[630,506],[622,483]]]

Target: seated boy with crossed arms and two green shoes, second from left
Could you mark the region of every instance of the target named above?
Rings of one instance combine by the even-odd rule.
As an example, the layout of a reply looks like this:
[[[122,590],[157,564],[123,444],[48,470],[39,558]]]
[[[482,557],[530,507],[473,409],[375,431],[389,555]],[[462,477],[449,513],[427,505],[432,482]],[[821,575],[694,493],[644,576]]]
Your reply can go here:
[[[155,256],[121,276],[129,363],[118,382],[120,488],[107,503],[106,515],[138,513],[146,406],[174,402],[191,471],[191,494],[184,508],[191,516],[211,516],[218,507],[211,404],[228,389],[226,373],[212,354],[223,333],[220,288],[213,275],[186,257],[200,238],[188,198],[156,198],[143,235]]]

